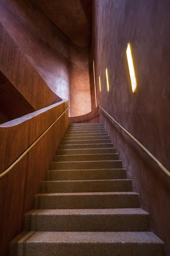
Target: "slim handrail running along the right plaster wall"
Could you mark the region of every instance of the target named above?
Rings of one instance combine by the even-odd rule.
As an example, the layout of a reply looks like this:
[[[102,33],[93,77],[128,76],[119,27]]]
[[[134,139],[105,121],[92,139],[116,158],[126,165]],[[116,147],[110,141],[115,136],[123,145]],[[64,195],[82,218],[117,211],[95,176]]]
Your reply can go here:
[[[133,135],[131,135],[123,126],[121,126],[113,117],[111,117],[111,115],[109,115],[104,108],[102,108],[100,105],[99,108],[101,108],[111,118],[111,120],[113,120],[120,128],[122,128],[124,132],[129,135],[137,143],[137,145],[139,145],[139,147],[141,147],[150,156],[150,158],[152,158],[154,162],[157,163],[157,165],[163,170],[163,172],[170,177],[170,172],[163,166],[161,162],[159,162],[159,160],[157,160],[154,155],[150,153],[147,148],[145,148],[139,141],[137,141],[135,137],[133,137]]]

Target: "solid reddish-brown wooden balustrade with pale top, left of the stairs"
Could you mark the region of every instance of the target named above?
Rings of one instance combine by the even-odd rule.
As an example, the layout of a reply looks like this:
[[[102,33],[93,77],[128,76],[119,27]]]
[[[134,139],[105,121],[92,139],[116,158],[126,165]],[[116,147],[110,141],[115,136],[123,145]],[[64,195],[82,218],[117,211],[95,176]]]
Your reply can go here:
[[[0,173],[66,108],[68,101],[62,101],[34,112],[37,114],[32,118],[29,114],[22,119],[0,125]],[[8,255],[10,241],[22,230],[24,214],[33,209],[33,195],[40,192],[40,182],[46,179],[46,170],[50,168],[50,162],[67,126],[68,111],[37,142],[29,154],[0,179],[0,255]]]

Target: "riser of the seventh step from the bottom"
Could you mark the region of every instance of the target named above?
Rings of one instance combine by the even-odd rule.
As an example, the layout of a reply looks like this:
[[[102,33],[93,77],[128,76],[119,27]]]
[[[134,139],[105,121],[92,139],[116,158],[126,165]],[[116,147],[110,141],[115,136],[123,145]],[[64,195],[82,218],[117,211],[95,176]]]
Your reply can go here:
[[[54,162],[118,160],[118,154],[55,155]]]

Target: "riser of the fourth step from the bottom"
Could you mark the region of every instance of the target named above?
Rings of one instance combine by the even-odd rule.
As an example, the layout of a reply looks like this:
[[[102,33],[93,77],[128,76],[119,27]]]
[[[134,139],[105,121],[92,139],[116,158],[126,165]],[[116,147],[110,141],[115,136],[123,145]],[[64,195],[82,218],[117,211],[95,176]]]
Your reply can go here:
[[[78,180],[44,181],[41,193],[80,193],[80,192],[125,192],[132,191],[131,180]]]

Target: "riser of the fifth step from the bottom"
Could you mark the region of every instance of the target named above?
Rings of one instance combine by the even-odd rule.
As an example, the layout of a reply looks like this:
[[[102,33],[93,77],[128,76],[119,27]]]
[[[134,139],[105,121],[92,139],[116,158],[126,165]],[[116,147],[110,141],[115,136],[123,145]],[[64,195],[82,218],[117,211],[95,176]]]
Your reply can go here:
[[[49,170],[48,181],[126,179],[126,169]]]

